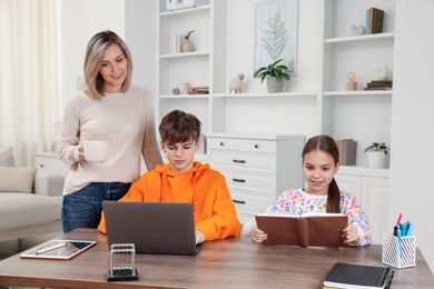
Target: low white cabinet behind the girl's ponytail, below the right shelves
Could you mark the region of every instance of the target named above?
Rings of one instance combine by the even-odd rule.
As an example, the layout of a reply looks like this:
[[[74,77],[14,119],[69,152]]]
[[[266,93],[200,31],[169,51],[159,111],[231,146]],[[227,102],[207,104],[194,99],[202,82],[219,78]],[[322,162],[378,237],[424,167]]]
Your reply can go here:
[[[383,232],[391,231],[387,222],[391,198],[387,169],[342,167],[335,176],[341,191],[353,193],[368,220],[374,243],[383,242]]]

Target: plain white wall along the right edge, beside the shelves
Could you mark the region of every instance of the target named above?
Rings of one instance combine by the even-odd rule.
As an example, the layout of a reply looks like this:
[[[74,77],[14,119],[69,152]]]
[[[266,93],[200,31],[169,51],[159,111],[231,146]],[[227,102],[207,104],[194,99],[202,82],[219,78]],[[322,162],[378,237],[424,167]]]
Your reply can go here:
[[[397,0],[392,113],[389,223],[415,223],[416,243],[434,271],[434,1]]]

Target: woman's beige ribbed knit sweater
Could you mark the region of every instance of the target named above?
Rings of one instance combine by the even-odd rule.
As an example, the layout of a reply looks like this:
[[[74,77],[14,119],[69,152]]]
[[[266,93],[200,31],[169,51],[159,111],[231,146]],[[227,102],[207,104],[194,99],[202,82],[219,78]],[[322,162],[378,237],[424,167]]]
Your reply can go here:
[[[106,161],[78,161],[78,144],[86,140],[108,141]],[[136,181],[140,177],[140,155],[148,170],[162,163],[149,91],[131,86],[125,93],[106,93],[102,100],[78,91],[66,106],[56,151],[70,167],[63,195],[89,182]]]

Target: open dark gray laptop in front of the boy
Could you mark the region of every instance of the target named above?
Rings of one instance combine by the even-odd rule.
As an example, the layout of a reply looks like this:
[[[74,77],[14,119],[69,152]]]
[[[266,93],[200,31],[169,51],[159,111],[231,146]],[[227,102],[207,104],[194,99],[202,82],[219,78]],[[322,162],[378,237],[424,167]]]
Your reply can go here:
[[[103,201],[107,239],[134,243],[137,253],[195,255],[191,203]]]

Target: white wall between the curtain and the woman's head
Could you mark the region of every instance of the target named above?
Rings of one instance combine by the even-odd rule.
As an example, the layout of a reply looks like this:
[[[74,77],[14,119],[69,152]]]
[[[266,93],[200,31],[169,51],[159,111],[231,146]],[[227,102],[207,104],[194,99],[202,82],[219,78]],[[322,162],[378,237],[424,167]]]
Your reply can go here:
[[[124,0],[58,0],[59,106],[63,116],[66,100],[77,90],[82,76],[86,47],[90,38],[110,29],[125,37]]]

